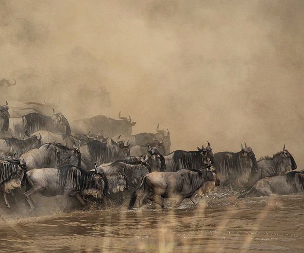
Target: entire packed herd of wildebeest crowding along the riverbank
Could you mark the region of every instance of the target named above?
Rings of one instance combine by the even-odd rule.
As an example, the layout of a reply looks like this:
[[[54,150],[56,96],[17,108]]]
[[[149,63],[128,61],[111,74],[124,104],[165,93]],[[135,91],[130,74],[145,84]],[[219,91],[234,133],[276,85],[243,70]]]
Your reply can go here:
[[[156,133],[132,135],[136,122],[121,112],[119,119],[68,122],[55,108],[16,101],[0,106],[0,189],[7,207],[6,194],[17,188],[32,209],[35,193],[63,195],[66,209],[71,198],[82,205],[101,199],[106,206],[118,194],[129,208],[149,201],[164,207],[164,198],[175,206],[185,198],[197,204],[196,195],[220,185],[246,190],[240,197],[304,191],[304,171],[293,171],[297,165],[285,145],[259,160],[246,143],[239,152],[213,153],[209,142],[197,151],[170,152],[170,132],[159,124]]]

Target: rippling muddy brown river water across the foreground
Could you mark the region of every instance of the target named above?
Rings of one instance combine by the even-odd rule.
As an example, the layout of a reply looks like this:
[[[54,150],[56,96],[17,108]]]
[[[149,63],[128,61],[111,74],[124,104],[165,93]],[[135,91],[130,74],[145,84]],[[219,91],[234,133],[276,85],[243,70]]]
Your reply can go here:
[[[185,201],[178,209],[148,206],[8,219],[0,223],[0,248],[7,252],[303,252],[303,200],[304,195],[208,196],[199,208]]]

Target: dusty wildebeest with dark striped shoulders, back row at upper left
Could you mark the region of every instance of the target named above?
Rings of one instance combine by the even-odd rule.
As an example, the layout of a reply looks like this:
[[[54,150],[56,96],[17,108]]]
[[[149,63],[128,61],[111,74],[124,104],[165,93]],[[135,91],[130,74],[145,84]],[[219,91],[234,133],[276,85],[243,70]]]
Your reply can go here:
[[[41,130],[66,136],[71,134],[69,123],[62,113],[55,113],[53,116],[29,113],[22,117],[10,118],[9,132],[13,136],[22,138],[25,131],[32,135]]]

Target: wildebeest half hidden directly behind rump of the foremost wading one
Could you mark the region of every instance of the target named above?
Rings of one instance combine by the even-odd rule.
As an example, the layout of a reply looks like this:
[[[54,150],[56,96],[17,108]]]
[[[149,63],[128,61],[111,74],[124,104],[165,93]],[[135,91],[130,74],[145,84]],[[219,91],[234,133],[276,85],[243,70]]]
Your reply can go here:
[[[100,165],[98,172],[101,171],[106,177],[110,177],[113,174],[125,174],[128,182],[128,187],[138,188],[142,178],[149,173],[148,163],[142,162],[137,164],[128,164],[123,161],[115,161],[109,165]]]

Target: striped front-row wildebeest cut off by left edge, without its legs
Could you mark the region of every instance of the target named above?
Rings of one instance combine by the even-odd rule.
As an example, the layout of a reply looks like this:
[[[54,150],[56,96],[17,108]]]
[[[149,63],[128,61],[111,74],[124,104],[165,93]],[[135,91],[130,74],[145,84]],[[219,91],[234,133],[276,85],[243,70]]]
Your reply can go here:
[[[17,162],[0,161],[0,185],[3,192],[10,192],[15,188],[21,188],[26,170],[23,170]]]

